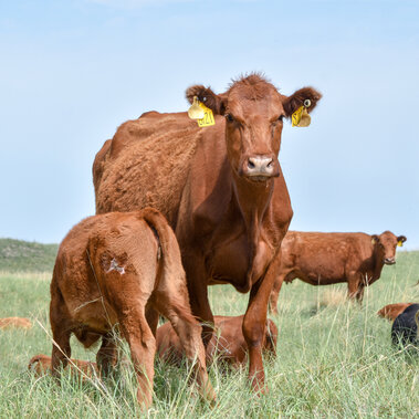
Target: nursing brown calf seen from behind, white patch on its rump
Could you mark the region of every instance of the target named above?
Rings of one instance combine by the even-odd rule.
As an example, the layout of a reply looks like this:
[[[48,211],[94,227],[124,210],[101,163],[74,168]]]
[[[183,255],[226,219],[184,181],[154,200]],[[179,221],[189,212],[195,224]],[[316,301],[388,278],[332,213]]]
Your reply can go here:
[[[52,373],[71,356],[72,333],[85,346],[103,336],[96,360],[108,373],[115,358],[113,328],[128,342],[139,404],[151,404],[156,339],[146,320],[153,307],[167,317],[195,364],[201,392],[213,399],[201,327],[191,315],[176,237],[155,209],[111,212],[75,226],[60,245],[51,282]]]

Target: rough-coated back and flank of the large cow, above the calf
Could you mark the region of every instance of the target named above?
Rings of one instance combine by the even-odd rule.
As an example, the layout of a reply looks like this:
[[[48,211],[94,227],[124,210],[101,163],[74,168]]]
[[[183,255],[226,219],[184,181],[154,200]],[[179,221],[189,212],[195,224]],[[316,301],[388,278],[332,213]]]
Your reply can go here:
[[[150,112],[123,124],[94,163],[96,212],[154,207],[174,224],[199,137],[186,113]]]

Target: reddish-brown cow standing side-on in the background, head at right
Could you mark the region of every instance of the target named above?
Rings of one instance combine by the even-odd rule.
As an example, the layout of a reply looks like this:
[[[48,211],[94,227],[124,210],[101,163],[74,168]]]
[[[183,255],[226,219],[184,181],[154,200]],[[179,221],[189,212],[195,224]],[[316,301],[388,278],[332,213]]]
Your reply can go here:
[[[277,314],[282,283],[296,277],[312,285],[347,282],[349,297],[362,302],[364,287],[380,277],[385,264],[396,263],[396,247],[405,241],[405,235],[396,237],[390,231],[380,235],[289,231],[281,247],[271,311]]]

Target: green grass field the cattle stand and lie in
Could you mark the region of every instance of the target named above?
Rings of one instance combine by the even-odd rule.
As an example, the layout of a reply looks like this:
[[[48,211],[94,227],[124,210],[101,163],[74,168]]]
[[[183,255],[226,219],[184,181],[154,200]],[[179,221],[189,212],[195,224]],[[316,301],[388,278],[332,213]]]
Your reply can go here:
[[[143,415],[136,385],[126,368],[116,381],[81,384],[63,376],[27,370],[35,354],[51,353],[50,273],[0,273],[0,317],[28,316],[32,329],[0,331],[0,418],[130,418]],[[245,370],[210,368],[218,404],[211,408],[187,384],[186,367],[156,362],[153,418],[413,418],[419,415],[419,356],[390,344],[390,323],[378,318],[384,305],[419,301],[419,252],[400,252],[395,266],[366,290],[363,307],[343,298],[344,285],[315,287],[294,281],[284,285],[277,358],[266,360],[269,394],[251,392]],[[245,311],[248,295],[230,286],[210,289],[216,314]],[[72,341],[73,357],[94,359]]]

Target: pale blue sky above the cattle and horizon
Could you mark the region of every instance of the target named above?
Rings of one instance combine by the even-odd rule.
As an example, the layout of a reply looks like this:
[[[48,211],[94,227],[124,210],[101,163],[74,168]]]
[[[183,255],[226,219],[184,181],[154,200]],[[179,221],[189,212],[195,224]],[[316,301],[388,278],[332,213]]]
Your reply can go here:
[[[285,124],[292,229],[391,230],[419,249],[419,3],[0,0],[0,237],[60,242],[94,213],[119,124],[263,71],[324,97]]]

